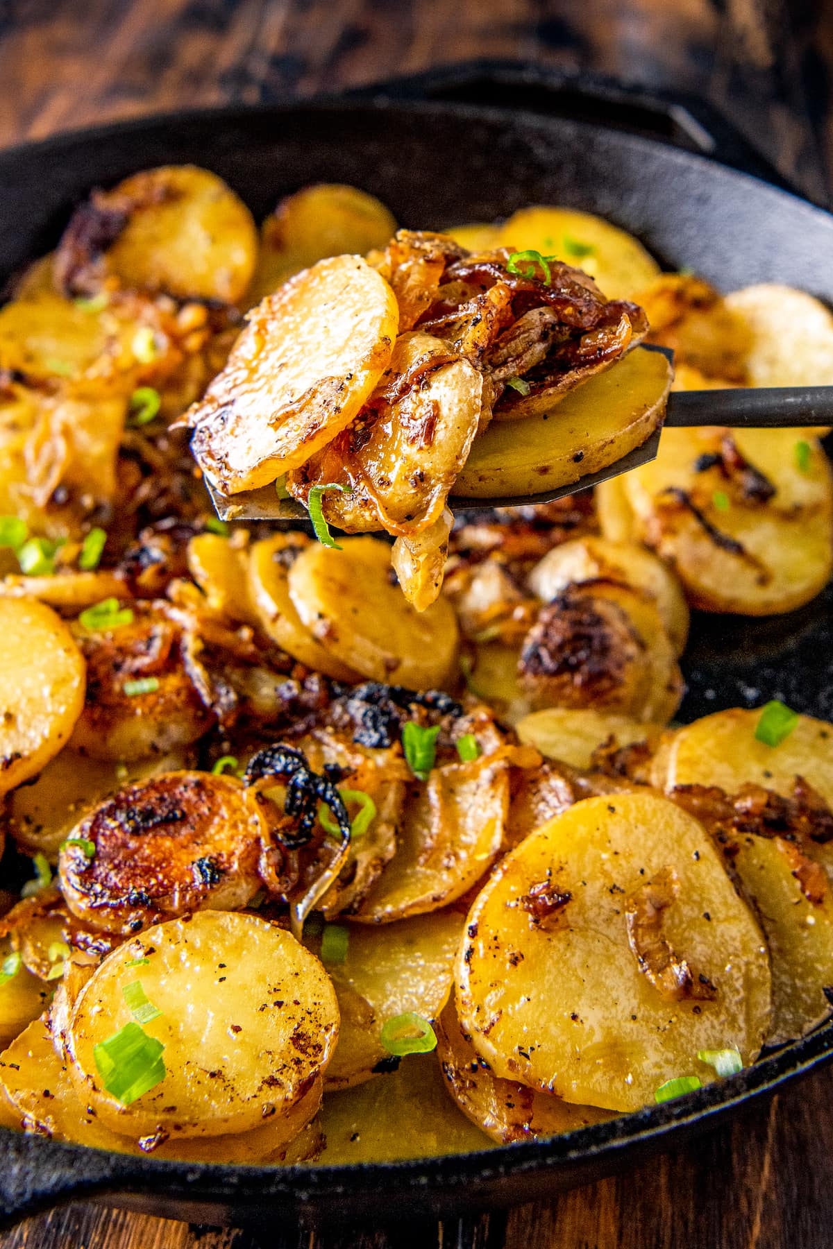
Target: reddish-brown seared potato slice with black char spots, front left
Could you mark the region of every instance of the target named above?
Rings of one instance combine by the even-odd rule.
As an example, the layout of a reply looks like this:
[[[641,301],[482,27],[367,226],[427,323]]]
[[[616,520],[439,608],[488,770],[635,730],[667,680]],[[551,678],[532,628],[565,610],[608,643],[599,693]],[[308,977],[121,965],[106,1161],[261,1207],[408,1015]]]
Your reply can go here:
[[[166,772],[90,811],[59,856],[61,889],[79,919],[127,937],[201,908],[234,911],[262,887],[267,833],[236,777]]]

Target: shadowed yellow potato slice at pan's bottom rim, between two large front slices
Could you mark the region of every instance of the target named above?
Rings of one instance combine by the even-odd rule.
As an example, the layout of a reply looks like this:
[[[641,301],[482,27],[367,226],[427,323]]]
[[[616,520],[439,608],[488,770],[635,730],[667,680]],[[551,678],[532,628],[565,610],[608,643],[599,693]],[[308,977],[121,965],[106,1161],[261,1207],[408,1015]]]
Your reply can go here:
[[[410,1054],[396,1072],[327,1094],[321,1127],[327,1140],[318,1159],[322,1167],[491,1147],[447,1097],[435,1054]]]

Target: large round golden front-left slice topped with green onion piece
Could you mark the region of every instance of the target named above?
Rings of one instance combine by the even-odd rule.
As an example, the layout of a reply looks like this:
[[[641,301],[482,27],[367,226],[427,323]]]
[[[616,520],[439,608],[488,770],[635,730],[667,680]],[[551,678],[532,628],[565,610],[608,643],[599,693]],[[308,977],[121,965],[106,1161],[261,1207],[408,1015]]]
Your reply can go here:
[[[137,958],[147,963],[127,965]],[[165,1075],[124,1105],[104,1087],[94,1049],[132,1022],[122,989],[135,980],[161,1012],[142,1027],[165,1047]],[[323,1074],[337,1035],[336,995],[317,958],[255,916],[206,911],[109,954],[79,994],[66,1040],[72,1079],[107,1127],[216,1137],[286,1114]]]

